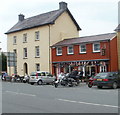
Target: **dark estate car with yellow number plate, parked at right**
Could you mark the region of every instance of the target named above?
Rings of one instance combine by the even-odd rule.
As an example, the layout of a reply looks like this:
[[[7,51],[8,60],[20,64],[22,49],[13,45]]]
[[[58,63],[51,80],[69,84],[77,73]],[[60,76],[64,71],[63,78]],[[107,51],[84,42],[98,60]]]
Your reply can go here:
[[[118,72],[102,72],[98,73],[94,79],[94,85],[98,88],[103,86],[112,87],[116,89],[120,87],[120,73]]]

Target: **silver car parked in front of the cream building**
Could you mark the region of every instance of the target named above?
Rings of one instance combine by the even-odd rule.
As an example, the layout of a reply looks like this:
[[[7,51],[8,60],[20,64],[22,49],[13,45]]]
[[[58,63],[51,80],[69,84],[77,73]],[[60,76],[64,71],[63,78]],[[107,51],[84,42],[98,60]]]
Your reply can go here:
[[[42,85],[44,83],[53,83],[54,80],[55,76],[53,76],[49,72],[37,71],[30,74],[29,83],[31,85],[34,85],[35,83],[37,83],[38,85]]]

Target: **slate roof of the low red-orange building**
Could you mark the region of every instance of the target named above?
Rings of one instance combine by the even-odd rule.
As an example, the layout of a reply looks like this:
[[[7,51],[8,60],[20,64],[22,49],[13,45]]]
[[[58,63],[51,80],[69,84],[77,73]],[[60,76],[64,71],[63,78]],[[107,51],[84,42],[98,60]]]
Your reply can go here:
[[[115,35],[116,35],[115,33],[107,33],[107,34],[100,34],[100,35],[64,39],[54,44],[52,47],[68,46],[73,44],[90,43],[90,42],[97,42],[97,41],[106,41],[106,40],[112,39]]]

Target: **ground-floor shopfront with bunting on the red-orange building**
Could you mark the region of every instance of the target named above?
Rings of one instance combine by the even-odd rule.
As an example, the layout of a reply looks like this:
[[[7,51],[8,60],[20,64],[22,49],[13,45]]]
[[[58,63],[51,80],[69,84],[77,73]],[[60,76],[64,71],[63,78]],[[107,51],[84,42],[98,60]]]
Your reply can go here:
[[[53,74],[70,73],[73,69],[83,71],[83,76],[92,76],[99,72],[109,71],[109,60],[86,60],[71,62],[53,62]]]

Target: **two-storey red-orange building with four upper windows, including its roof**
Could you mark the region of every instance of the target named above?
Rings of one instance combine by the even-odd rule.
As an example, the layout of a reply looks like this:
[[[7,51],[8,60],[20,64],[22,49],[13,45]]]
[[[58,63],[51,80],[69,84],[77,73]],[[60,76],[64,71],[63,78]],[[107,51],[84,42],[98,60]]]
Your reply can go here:
[[[118,71],[115,33],[64,39],[52,47],[52,73],[68,73],[73,68],[89,73]]]

